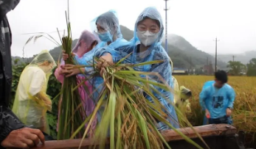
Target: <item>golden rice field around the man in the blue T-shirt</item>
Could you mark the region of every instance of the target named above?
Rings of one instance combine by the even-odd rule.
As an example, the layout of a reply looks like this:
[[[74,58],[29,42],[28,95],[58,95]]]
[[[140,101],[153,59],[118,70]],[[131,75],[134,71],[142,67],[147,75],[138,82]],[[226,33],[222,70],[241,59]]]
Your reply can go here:
[[[193,93],[190,99],[191,113],[187,119],[193,126],[201,126],[204,112],[201,112],[199,94],[205,81],[214,79],[214,76],[175,76],[179,86],[184,85]],[[229,76],[228,84],[236,93],[234,109],[232,111],[233,125],[238,130],[246,131],[246,142],[255,144],[256,132],[256,77]]]

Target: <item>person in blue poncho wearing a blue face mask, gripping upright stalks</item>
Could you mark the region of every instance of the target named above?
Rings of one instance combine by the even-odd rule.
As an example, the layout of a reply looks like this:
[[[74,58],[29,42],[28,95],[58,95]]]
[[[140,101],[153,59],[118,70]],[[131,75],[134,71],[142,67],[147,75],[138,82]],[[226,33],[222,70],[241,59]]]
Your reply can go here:
[[[84,54],[83,57],[79,58],[75,56],[78,65],[91,65],[94,56],[97,55],[97,53],[100,53],[100,51],[103,51],[105,48],[114,49],[128,43],[127,40],[122,37],[117,12],[114,10],[110,10],[97,18],[94,18],[94,20],[91,21],[91,28],[94,34],[98,36],[101,41],[91,51]],[[64,57],[67,59],[68,55],[63,53],[63,59]],[[66,69],[63,71],[63,73],[67,73],[66,77],[79,74],[81,71],[83,71],[86,76],[91,76],[91,74],[94,73],[94,68],[92,67],[72,69],[73,66],[74,65],[65,65],[63,67],[63,69]],[[90,82],[94,89],[92,99],[97,102],[98,96],[103,88],[103,78],[96,76],[91,79]],[[100,120],[100,115],[97,115],[97,120]]]

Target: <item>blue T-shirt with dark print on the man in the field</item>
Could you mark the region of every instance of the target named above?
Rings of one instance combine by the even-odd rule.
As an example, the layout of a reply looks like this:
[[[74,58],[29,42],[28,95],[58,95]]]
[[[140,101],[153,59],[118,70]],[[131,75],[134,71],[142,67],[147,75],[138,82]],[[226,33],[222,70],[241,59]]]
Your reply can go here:
[[[200,104],[203,110],[208,109],[211,119],[226,116],[226,108],[233,108],[235,101],[235,91],[229,84],[217,88],[215,81],[207,81],[199,95]],[[207,123],[204,117],[204,125]]]

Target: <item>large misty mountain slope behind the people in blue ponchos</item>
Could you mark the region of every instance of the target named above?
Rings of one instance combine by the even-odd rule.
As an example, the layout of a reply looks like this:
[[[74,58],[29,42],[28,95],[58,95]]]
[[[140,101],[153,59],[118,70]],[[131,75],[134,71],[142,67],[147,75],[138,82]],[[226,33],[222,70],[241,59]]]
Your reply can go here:
[[[126,40],[131,40],[134,37],[134,32],[128,29],[125,26],[121,26],[121,32],[123,37]],[[173,65],[176,68],[190,68],[190,59],[191,59],[191,66],[194,68],[200,68],[206,65],[207,57],[209,62],[211,61],[214,64],[215,60],[210,54],[205,53],[204,51],[199,51],[195,47],[193,47],[187,40],[183,37],[180,37],[176,34],[170,34],[168,37],[168,51],[167,54],[173,61]],[[73,47],[77,43],[77,40],[73,41]],[[163,43],[164,46],[164,43]],[[57,60],[60,55],[60,47],[55,47],[49,51],[52,54],[52,57]],[[20,57],[16,57],[21,59]],[[25,59],[24,62],[30,62],[32,58]],[[21,59],[22,60],[22,59]],[[220,68],[226,68],[226,64],[224,62],[218,62],[218,66]]]

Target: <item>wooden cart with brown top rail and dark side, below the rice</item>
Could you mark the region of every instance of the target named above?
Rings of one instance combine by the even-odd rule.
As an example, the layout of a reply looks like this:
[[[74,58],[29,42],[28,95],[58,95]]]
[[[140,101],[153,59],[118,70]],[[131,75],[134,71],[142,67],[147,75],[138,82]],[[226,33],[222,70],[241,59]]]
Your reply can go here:
[[[203,137],[204,141],[211,149],[245,149],[244,143],[244,132],[239,131],[237,134],[237,129],[234,126],[229,126],[226,124],[218,125],[207,125],[207,126],[197,126],[194,127],[198,134]],[[182,133],[186,134],[201,145],[201,147],[206,148],[204,143],[196,136],[196,133],[191,128],[180,128]],[[162,135],[165,137],[170,147],[173,149],[196,149],[193,145],[182,139],[179,134],[176,134],[173,130],[162,131]],[[80,145],[81,139],[67,139],[59,141],[46,141],[44,145],[40,144],[33,149],[77,149]],[[90,139],[84,139],[82,148],[89,148],[91,145]],[[107,141],[108,142],[108,141]],[[109,148],[108,145],[105,148]]]

